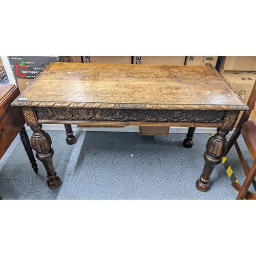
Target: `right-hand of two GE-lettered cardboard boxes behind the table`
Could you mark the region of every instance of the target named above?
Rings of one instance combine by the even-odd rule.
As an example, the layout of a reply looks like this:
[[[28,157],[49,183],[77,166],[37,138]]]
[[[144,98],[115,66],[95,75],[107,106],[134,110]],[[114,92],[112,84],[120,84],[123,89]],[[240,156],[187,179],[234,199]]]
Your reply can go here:
[[[186,56],[133,56],[135,65],[184,65]]]

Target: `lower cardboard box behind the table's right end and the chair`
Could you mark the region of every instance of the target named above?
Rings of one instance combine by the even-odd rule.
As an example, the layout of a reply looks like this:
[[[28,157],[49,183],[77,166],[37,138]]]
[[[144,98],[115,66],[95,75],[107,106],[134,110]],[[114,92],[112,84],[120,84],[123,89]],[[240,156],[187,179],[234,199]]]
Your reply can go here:
[[[236,94],[245,103],[247,103],[256,79],[256,72],[222,73],[221,75],[230,84],[234,92],[236,92]],[[235,127],[237,126],[242,114],[243,112],[240,112]],[[253,112],[251,112],[249,120],[253,120]]]

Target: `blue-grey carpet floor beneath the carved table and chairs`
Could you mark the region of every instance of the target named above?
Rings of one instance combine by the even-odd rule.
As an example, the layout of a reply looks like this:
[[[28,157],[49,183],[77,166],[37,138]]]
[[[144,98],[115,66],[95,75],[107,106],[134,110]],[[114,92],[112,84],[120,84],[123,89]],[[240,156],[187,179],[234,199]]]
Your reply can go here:
[[[29,137],[32,131],[27,131]],[[195,183],[202,174],[209,134],[195,134],[194,146],[185,148],[185,134],[168,137],[138,133],[74,132],[78,141],[66,143],[65,131],[46,131],[52,138],[53,164],[62,180],[60,187],[47,186],[46,170],[36,159],[33,172],[19,136],[0,160],[0,195],[7,199],[236,199],[237,192],[223,164],[211,175],[209,191]],[[230,135],[228,135],[228,138]],[[248,164],[252,159],[239,138]],[[133,156],[132,156],[133,155]],[[245,179],[234,148],[227,155],[239,183]],[[251,191],[255,193],[253,186]]]

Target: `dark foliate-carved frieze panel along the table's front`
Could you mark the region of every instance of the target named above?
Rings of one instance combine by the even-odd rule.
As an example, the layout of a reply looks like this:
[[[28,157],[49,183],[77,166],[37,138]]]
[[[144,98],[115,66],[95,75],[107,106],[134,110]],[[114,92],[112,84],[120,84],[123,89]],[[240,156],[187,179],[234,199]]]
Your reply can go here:
[[[151,122],[222,122],[225,111],[35,108],[41,119]]]

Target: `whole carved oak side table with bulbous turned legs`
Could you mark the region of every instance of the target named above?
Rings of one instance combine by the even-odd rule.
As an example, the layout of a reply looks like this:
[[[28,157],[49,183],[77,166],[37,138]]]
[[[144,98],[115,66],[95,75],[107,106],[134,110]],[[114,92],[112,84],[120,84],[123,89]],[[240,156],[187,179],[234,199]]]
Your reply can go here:
[[[33,130],[32,148],[44,164],[50,188],[61,184],[50,136],[42,124],[95,126],[185,126],[183,142],[193,145],[196,127],[216,127],[206,143],[196,187],[207,191],[212,170],[225,156],[226,135],[248,106],[212,66],[120,65],[52,62],[13,102]]]

